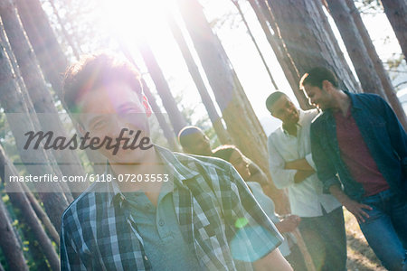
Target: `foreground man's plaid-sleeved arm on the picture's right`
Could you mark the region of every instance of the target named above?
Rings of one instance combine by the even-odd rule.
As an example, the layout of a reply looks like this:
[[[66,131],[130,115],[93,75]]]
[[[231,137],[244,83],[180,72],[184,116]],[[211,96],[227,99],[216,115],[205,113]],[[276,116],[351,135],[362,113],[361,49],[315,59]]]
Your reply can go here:
[[[279,251],[282,236],[232,165],[229,166],[229,180],[231,189],[222,196],[222,206],[225,214],[230,213],[226,215],[226,222],[235,231],[231,247],[244,248],[245,251],[233,253],[232,249],[232,257],[251,262],[258,270],[291,270],[284,257],[279,257],[280,253],[275,252]],[[227,182],[225,180],[223,186]],[[237,222],[241,226],[236,226]]]

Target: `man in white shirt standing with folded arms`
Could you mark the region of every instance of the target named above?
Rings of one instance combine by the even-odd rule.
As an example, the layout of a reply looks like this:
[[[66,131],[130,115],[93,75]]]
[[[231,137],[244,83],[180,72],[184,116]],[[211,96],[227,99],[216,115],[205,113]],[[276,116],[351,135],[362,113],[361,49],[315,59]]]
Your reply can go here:
[[[301,218],[298,229],[317,270],[343,271],[344,213],[334,196],[323,193],[311,154],[309,129],[317,109],[298,109],[280,91],[270,94],[266,107],[282,121],[268,139],[271,178],[278,188],[288,188],[291,212]]]

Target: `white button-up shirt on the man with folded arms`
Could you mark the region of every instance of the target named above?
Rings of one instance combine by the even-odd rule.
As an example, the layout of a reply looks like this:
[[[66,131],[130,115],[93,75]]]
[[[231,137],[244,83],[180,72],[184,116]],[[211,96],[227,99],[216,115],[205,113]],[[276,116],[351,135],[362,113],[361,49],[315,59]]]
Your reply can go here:
[[[312,160],[310,127],[311,121],[318,114],[317,109],[302,111],[299,109],[297,136],[289,135],[280,126],[269,135],[269,163],[271,178],[277,188],[288,188],[291,212],[300,217],[322,216],[322,207],[327,212],[341,206],[331,194],[322,193],[322,182],[317,173],[302,182],[295,183],[297,170],[284,169],[287,162],[305,158],[316,169]]]

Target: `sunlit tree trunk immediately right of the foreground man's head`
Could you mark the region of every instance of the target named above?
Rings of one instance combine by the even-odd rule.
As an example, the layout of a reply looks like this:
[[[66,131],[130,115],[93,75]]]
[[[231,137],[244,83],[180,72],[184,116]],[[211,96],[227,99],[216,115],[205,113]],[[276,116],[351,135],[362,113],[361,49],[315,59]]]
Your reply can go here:
[[[148,46],[147,42],[143,41],[138,45],[138,51],[140,51],[144,62],[146,63],[148,73],[153,79],[156,85],[156,91],[163,101],[164,107],[166,107],[166,112],[174,127],[175,136],[178,135],[179,131],[187,126],[185,117],[181,111],[176,106],[175,98],[171,94],[171,90],[166,82],[163,71],[161,70],[156,57]]]

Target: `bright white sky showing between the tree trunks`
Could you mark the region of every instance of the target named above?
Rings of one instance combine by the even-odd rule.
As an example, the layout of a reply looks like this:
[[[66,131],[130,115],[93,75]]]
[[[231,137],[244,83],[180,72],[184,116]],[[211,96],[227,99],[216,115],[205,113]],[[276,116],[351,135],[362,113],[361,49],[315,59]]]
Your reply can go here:
[[[169,28],[166,26],[166,13],[175,14],[175,19],[186,34],[183,22],[177,12],[175,1],[103,0],[101,4],[100,10],[94,11],[102,13],[101,16],[104,18],[99,23],[99,31],[108,32],[113,40],[121,39],[133,53],[135,60],[144,72],[147,70],[144,68],[141,57],[138,55],[137,42],[147,41],[156,54],[156,58],[173,90],[174,96],[182,96],[181,106],[194,107],[192,120],[197,121],[203,114],[206,114],[198,91],[195,89],[194,81],[191,79],[182,55]],[[232,66],[237,71],[241,84],[251,100],[251,105],[263,126],[267,126],[265,130],[269,134],[271,132],[270,129],[273,126],[277,126],[278,122],[271,122],[270,115],[264,106],[264,101],[274,89],[260,61],[260,57],[247,34],[247,30],[241,23],[241,17],[237,14],[237,10],[230,0],[203,0],[202,4],[204,5],[204,13],[207,15],[208,20],[210,22],[217,22],[214,30],[221,38],[222,44],[232,61]],[[251,11],[250,5],[245,1],[240,1],[240,4],[280,90],[287,92],[289,97],[297,102],[260,28],[260,24],[257,22],[255,14]],[[331,24],[332,22],[331,20]],[[401,52],[392,28],[384,14],[365,15],[364,23],[383,61],[392,57],[393,53]],[[345,46],[340,40],[340,35],[336,31],[335,25],[334,31],[341,48],[345,51]],[[387,35],[390,36],[390,39],[383,44],[383,40]],[[192,42],[187,35],[185,38],[194,53]],[[345,57],[347,58],[346,54]],[[194,58],[199,63],[195,53]],[[348,62],[352,66],[351,62]],[[201,71],[204,74],[202,69]],[[154,86],[154,84],[151,84],[151,86]],[[207,87],[210,89],[209,84],[207,84]]]

